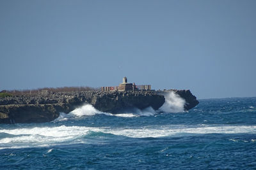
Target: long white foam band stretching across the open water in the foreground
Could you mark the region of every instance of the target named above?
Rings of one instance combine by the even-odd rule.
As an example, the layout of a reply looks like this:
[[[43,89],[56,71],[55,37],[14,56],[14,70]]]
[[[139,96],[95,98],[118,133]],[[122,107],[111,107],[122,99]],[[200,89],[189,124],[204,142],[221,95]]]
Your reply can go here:
[[[0,132],[16,136],[0,139],[1,148],[22,148],[52,146],[66,143],[87,143],[86,135],[103,132],[129,138],[161,138],[166,136],[184,136],[188,134],[256,134],[256,126],[205,126],[184,125],[146,126],[134,128],[65,126],[34,127],[20,129],[1,129]],[[251,140],[252,142],[255,139]]]

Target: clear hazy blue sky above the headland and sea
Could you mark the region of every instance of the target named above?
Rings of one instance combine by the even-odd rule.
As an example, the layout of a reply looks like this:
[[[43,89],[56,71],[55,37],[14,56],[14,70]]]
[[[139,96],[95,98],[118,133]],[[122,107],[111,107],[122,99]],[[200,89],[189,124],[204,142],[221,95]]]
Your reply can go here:
[[[112,86],[256,96],[256,1],[0,1],[0,90]]]

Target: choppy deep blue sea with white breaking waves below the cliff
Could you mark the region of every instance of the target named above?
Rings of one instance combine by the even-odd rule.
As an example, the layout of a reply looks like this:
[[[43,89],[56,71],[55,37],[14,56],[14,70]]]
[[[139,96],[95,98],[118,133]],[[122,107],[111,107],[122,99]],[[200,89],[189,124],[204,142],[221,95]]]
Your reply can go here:
[[[0,169],[256,169],[256,97],[0,125]],[[170,110],[168,110],[168,106]],[[170,113],[174,112],[174,113]]]

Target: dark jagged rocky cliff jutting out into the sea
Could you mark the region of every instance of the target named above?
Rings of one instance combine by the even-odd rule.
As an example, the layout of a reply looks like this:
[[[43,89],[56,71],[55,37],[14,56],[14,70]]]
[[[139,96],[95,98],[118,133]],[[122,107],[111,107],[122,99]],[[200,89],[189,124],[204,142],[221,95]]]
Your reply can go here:
[[[60,112],[69,113],[84,103],[111,113],[118,113],[124,108],[144,109],[148,106],[157,110],[164,104],[164,93],[170,91],[185,99],[185,110],[198,104],[189,90],[83,91],[13,96],[0,98],[0,124],[51,122],[59,117]]]

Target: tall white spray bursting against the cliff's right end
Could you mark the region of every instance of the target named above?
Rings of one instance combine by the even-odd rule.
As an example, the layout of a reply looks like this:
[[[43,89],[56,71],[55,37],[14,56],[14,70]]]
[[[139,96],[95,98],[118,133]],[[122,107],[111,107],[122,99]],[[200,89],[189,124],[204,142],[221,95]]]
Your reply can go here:
[[[165,103],[159,111],[164,111],[166,113],[179,113],[184,111],[184,104],[186,101],[182,99],[178,94],[175,92],[168,92],[164,94]]]

